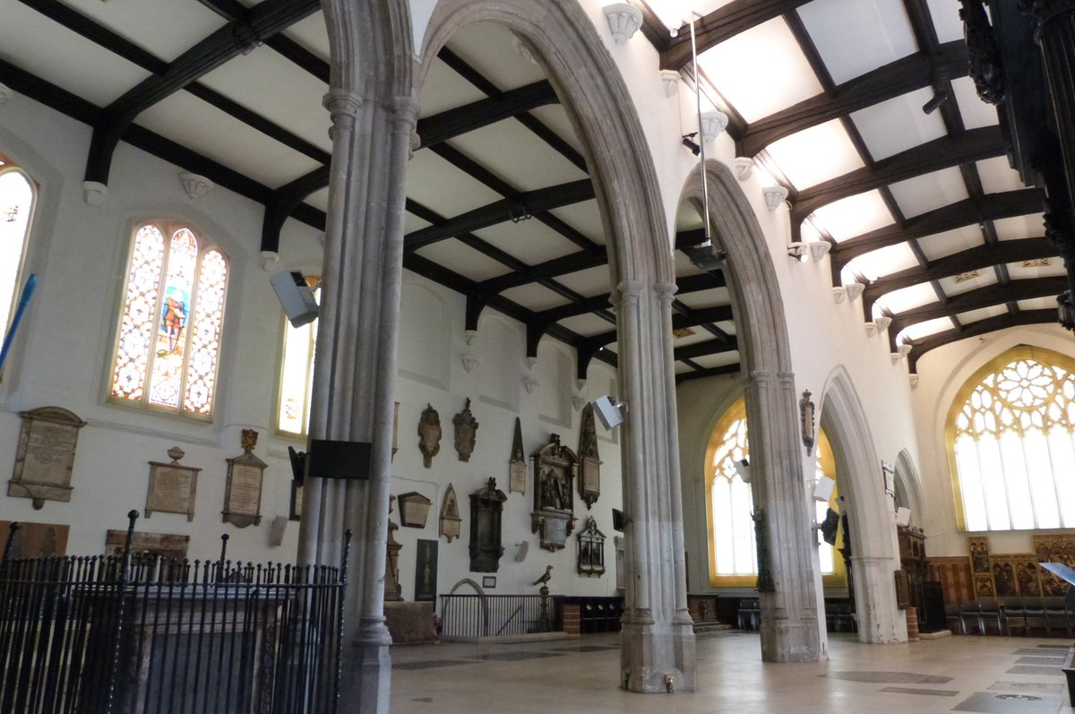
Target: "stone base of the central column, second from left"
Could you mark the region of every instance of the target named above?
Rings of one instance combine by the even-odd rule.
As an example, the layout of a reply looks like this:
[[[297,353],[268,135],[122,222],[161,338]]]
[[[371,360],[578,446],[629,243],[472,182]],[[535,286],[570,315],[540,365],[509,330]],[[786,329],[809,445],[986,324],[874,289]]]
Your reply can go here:
[[[625,619],[620,631],[620,682],[628,691],[665,694],[696,687],[694,629],[688,623],[661,625]]]

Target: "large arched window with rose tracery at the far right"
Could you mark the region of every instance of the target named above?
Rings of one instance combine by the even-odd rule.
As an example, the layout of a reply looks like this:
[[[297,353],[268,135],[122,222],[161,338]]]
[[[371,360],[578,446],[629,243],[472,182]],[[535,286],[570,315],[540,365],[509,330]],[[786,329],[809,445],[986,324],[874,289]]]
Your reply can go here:
[[[948,415],[965,530],[1075,527],[1075,360],[1038,347],[978,370]]]

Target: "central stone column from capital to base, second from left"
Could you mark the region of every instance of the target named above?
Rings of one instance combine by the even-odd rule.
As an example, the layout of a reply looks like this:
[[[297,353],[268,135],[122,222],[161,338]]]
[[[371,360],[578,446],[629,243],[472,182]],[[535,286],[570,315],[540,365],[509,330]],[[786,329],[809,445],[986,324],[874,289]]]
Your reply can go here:
[[[631,691],[694,689],[694,631],[687,611],[683,501],[672,373],[674,285],[617,288],[626,602],[621,685]],[[669,681],[671,677],[671,682]]]

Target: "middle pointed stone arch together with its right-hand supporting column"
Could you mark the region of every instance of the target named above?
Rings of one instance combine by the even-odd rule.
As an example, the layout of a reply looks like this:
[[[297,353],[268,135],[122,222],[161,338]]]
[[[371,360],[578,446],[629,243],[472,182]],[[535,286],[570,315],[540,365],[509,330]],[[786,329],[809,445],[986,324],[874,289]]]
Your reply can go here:
[[[697,167],[680,202],[693,203],[702,215],[702,202],[708,201],[711,235],[728,254],[725,274],[747,375],[750,465],[758,474],[751,490],[756,517],[769,541],[768,548],[759,545],[758,554],[761,655],[772,662],[816,661],[821,640],[812,575],[813,515],[801,476],[803,447],[784,303],[765,237],[739,182],[719,161],[706,161],[705,177],[708,195],[702,192]]]

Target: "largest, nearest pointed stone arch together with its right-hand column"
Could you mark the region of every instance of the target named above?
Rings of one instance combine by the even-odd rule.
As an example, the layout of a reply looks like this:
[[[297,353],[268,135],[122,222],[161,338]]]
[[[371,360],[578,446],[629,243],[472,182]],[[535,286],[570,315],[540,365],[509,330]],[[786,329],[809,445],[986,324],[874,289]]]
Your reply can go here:
[[[608,246],[617,306],[627,583],[621,685],[694,689],[687,611],[679,455],[672,371],[675,270],[661,191],[633,100],[590,17],[571,0],[440,0],[422,42],[417,86],[464,26],[491,22],[530,48],[584,145]]]

